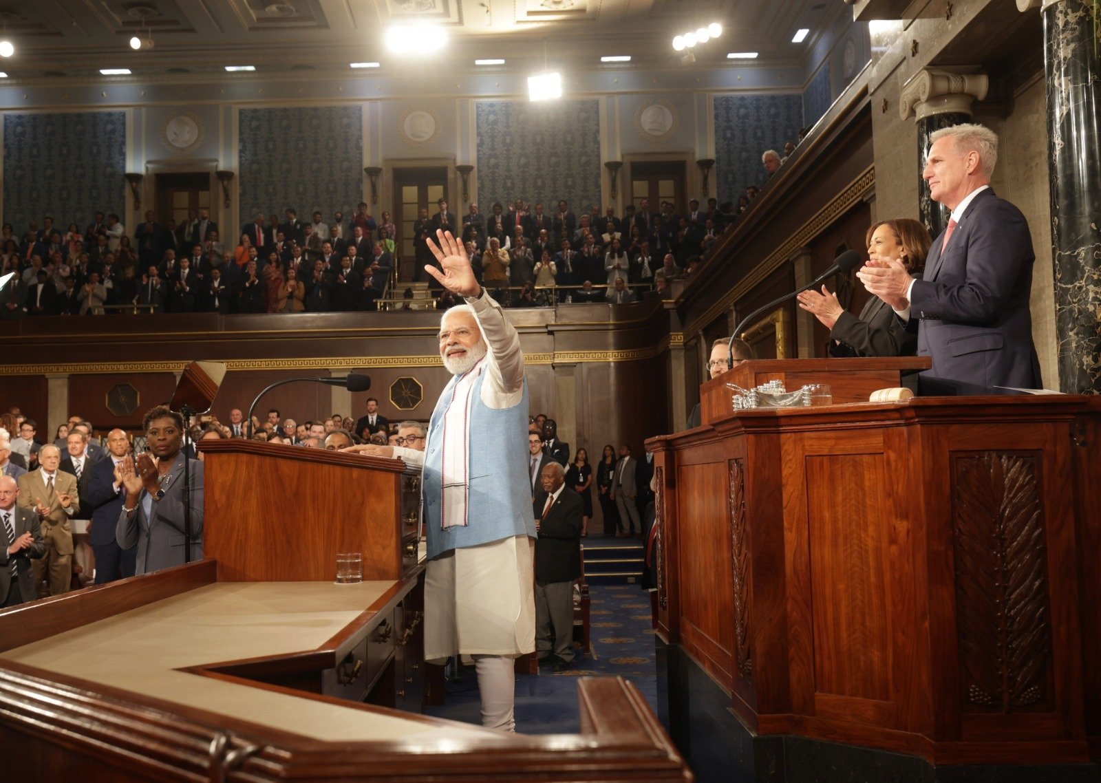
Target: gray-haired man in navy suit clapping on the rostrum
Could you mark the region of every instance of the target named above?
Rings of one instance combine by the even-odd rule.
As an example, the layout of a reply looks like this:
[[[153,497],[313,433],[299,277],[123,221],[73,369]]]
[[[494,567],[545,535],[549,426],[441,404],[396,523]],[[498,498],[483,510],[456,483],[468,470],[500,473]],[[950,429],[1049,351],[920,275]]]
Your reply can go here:
[[[933,357],[918,378],[923,394],[1042,388],[1028,308],[1035,260],[1028,224],[990,189],[998,135],[960,124],[929,139],[923,176],[933,200],[952,211],[923,279],[898,259],[863,267],[857,276],[917,331],[917,355]]]

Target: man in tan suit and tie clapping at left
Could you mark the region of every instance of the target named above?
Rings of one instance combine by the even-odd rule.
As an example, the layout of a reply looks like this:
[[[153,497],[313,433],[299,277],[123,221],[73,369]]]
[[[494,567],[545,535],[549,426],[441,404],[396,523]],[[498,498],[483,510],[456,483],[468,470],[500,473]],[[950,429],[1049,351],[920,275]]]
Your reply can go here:
[[[19,479],[19,504],[39,515],[46,544],[45,554],[33,564],[34,584],[37,586],[48,572],[51,596],[69,591],[73,579],[73,526],[69,518],[79,511],[76,478],[57,469],[61,461],[61,449],[46,444],[39,449],[42,467]]]

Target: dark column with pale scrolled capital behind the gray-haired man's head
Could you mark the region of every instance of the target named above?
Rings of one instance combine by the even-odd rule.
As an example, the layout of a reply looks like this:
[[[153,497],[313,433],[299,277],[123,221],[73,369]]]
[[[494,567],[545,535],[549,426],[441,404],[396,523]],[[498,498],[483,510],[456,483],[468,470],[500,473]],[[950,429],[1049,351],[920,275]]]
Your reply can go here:
[[[929,151],[929,137],[941,128],[970,122],[971,102],[985,98],[989,87],[985,74],[956,74],[931,68],[918,70],[903,85],[898,113],[904,120],[911,116],[917,119],[918,214],[931,237],[936,237],[948,226],[950,210],[929,198],[929,186],[922,177]]]

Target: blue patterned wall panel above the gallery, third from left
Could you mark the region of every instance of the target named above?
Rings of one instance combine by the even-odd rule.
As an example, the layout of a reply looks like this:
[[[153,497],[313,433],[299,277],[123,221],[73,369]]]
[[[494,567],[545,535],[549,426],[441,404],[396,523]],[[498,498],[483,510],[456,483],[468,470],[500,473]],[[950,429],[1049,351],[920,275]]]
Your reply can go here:
[[[559,198],[580,214],[600,203],[600,102],[479,101],[478,199],[490,205],[523,198],[546,211]]]

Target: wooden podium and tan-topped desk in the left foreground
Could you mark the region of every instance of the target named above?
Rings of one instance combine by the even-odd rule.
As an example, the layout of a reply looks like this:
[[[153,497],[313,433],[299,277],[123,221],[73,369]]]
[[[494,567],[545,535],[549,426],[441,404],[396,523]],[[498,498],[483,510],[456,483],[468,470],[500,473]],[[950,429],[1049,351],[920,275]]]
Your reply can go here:
[[[206,559],[0,610],[6,780],[691,780],[619,677],[578,679],[576,736],[418,714],[419,476],[400,460],[199,448]],[[362,583],[334,584],[338,552]]]

